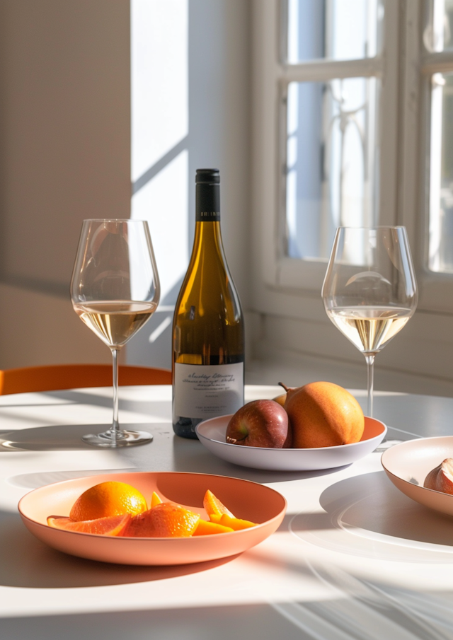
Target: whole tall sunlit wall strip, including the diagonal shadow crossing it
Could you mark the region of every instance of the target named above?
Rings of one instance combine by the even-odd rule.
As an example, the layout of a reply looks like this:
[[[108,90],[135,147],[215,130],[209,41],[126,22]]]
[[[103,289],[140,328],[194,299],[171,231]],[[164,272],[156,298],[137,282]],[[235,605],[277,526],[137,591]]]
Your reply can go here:
[[[161,304],[188,264],[188,0],[132,0],[132,218],[149,223]]]

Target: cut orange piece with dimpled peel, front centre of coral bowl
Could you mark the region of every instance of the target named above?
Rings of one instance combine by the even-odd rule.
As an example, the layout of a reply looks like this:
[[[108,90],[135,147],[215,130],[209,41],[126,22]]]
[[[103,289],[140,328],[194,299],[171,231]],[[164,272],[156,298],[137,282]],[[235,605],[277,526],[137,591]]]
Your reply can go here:
[[[197,528],[199,513],[180,504],[162,502],[134,516],[122,535],[127,537],[190,537]]]

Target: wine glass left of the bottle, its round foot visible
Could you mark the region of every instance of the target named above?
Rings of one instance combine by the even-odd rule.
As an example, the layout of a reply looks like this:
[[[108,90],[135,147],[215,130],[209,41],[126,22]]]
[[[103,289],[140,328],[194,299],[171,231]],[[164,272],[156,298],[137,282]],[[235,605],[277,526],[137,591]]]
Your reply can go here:
[[[84,220],[71,279],[71,302],[79,318],[113,356],[113,424],[82,440],[99,447],[150,442],[147,431],[125,431],[118,423],[118,353],[151,318],[160,284],[148,223]]]

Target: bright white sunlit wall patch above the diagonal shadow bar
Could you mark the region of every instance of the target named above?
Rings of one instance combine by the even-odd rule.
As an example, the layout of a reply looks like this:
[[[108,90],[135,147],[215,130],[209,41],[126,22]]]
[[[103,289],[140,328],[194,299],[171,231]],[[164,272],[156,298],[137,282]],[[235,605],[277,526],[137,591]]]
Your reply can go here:
[[[132,182],[188,134],[188,0],[131,1]]]

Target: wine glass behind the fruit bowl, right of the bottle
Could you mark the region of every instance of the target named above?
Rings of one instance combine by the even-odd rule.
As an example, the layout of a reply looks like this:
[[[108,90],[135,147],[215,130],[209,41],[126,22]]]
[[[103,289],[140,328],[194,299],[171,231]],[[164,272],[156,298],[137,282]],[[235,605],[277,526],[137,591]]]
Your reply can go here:
[[[374,357],[417,306],[406,228],[338,228],[321,295],[333,324],[365,356],[372,417]]]

